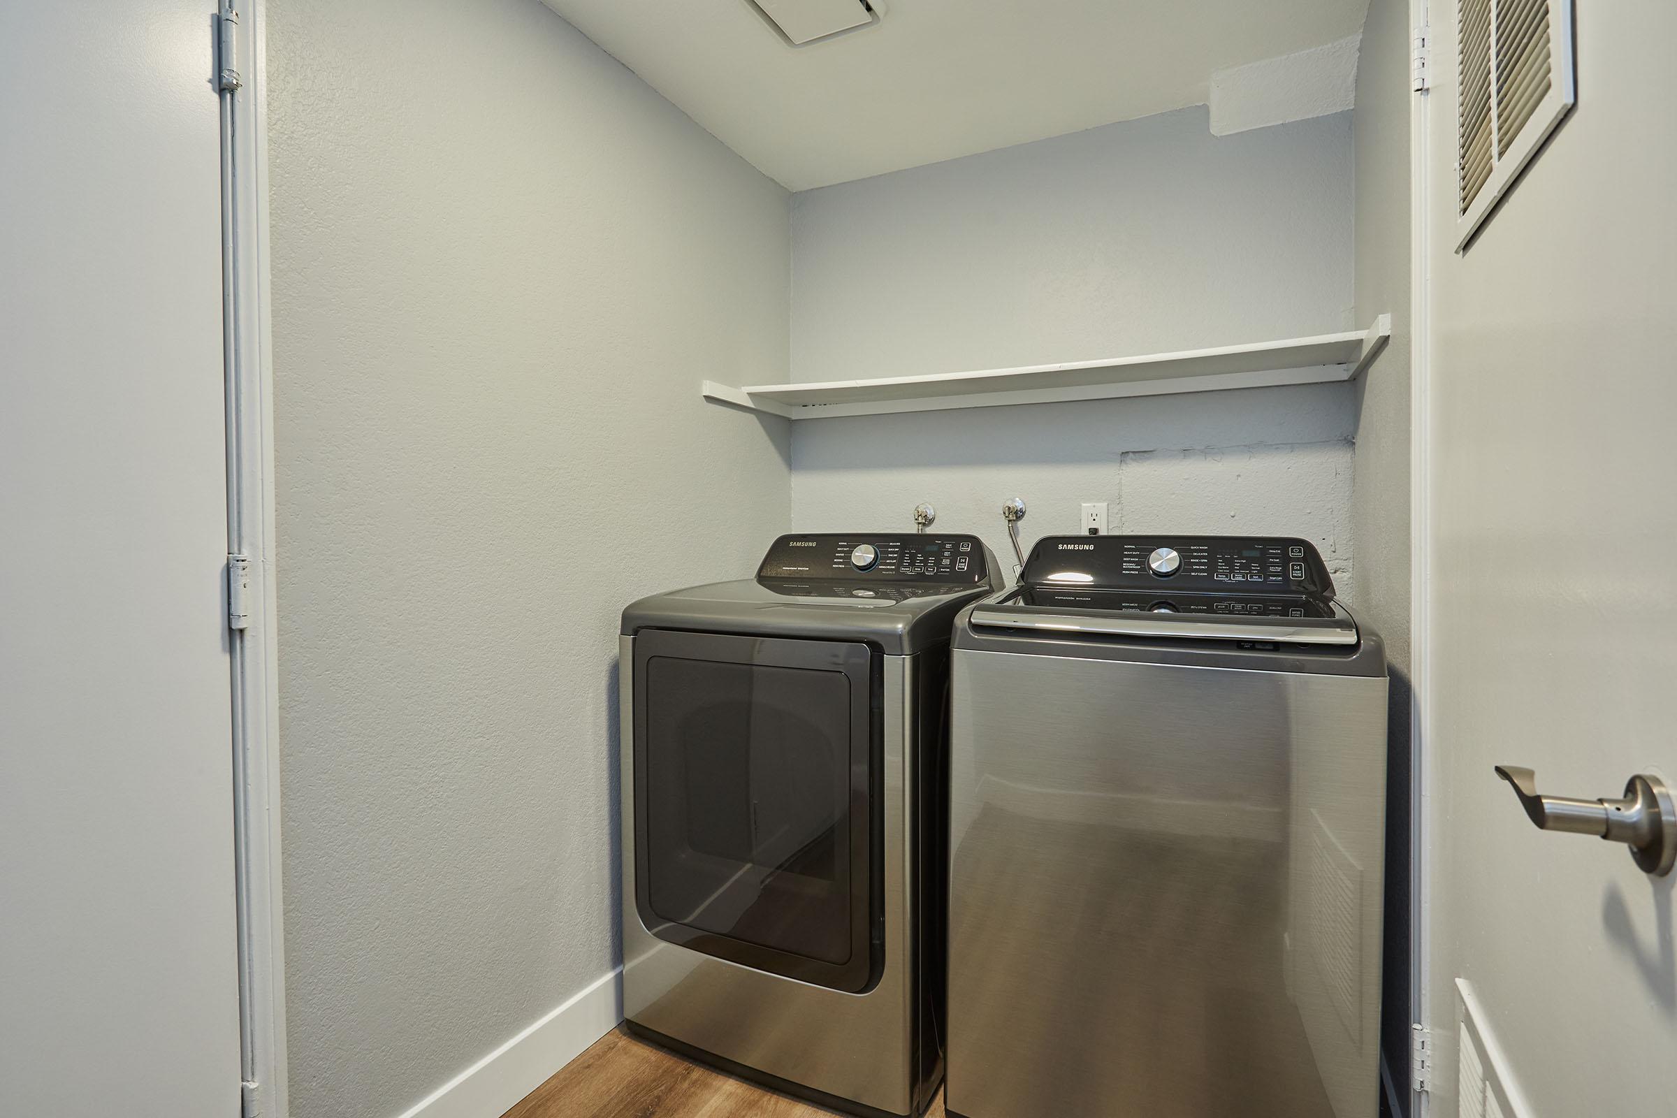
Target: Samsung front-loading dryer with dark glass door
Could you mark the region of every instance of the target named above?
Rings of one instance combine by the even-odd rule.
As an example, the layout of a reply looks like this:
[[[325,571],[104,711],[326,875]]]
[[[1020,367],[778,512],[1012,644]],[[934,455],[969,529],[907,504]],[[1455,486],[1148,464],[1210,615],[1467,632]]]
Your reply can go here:
[[[942,1076],[944,711],[974,536],[793,535],[624,610],[631,1031],[859,1115]]]

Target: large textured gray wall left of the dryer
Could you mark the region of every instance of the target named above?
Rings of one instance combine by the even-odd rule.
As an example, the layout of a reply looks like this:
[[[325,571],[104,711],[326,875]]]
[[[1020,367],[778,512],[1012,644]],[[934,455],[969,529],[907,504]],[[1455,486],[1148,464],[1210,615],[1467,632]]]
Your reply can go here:
[[[268,12],[292,1115],[382,1118],[614,965],[617,613],[788,525],[698,394],[787,194],[535,0]]]

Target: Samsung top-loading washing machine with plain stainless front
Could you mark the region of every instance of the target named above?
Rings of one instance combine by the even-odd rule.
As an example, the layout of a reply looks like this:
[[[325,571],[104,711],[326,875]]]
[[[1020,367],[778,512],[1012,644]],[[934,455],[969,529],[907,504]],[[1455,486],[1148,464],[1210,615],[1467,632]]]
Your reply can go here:
[[[953,652],[963,1118],[1372,1118],[1387,674],[1306,540],[1050,536]]]

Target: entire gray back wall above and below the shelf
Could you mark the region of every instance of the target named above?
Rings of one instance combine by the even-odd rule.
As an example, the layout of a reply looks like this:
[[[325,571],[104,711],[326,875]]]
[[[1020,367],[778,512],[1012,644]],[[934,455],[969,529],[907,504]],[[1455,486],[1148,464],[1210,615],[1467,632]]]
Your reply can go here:
[[[792,379],[953,372],[1352,327],[1350,114],[1214,137],[1204,107],[795,194]],[[1368,315],[1372,318],[1372,315]],[[1360,325],[1360,323],[1358,323]],[[793,523],[1026,546],[1112,531],[1303,533],[1343,588],[1350,386],[803,421]]]

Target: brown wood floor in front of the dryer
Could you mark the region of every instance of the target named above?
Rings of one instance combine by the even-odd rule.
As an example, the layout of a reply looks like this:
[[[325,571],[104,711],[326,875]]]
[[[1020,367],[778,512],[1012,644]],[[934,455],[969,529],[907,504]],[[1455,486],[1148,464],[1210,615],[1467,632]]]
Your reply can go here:
[[[612,1029],[503,1118],[822,1118],[830,1113]],[[941,1093],[926,1118],[944,1118]]]

